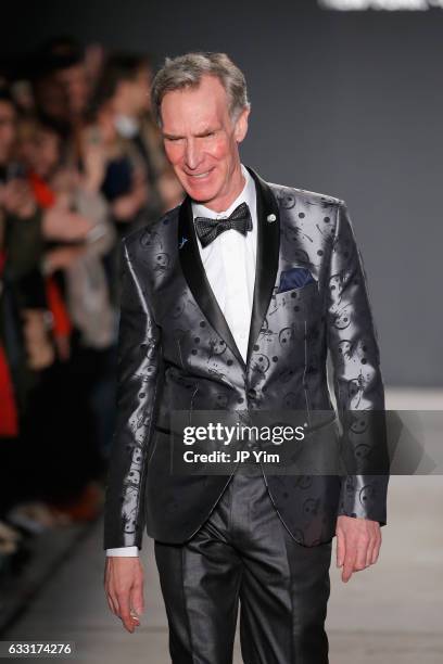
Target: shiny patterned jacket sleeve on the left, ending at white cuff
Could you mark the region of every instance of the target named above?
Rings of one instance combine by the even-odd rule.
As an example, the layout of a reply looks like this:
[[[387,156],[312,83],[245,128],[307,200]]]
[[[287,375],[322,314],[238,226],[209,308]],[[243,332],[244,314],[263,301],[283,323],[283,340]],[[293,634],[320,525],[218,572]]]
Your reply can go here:
[[[141,549],[144,480],[162,366],[161,335],[125,240],[121,274],[117,410],[107,472],[103,548]],[[144,282],[143,286],[147,288]]]

